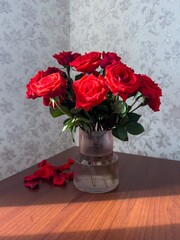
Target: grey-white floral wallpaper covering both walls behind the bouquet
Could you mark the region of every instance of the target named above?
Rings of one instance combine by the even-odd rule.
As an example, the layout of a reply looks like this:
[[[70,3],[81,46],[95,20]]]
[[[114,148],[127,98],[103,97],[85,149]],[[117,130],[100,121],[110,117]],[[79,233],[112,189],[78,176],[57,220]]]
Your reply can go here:
[[[54,53],[115,51],[162,87],[161,111],[144,109],[146,131],[115,150],[180,160],[179,0],[0,0],[0,179],[72,146],[25,86]],[[58,131],[59,130],[59,131]]]

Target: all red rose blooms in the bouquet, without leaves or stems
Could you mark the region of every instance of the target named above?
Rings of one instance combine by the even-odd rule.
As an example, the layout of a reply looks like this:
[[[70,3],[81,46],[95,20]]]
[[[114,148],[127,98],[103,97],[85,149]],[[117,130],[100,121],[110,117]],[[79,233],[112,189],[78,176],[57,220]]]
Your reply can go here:
[[[153,111],[159,111],[162,91],[146,75],[135,74],[121,62],[113,52],[79,53],[60,52],[53,55],[63,67],[73,67],[82,73],[82,78],[74,81],[72,89],[76,96],[75,108],[89,111],[106,99],[109,92],[118,95],[123,101],[136,92],[140,92]],[[101,67],[103,72],[97,71]],[[27,98],[43,97],[44,105],[50,106],[49,98],[66,100],[68,78],[65,72],[57,68],[39,71],[27,84]]]

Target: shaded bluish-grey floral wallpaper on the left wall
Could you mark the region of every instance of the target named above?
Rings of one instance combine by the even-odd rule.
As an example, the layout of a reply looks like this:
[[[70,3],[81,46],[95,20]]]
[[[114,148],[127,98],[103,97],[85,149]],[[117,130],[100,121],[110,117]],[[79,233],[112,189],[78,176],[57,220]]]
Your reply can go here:
[[[59,119],[40,100],[25,98],[29,79],[54,66],[51,56],[64,49],[69,1],[0,1],[0,179],[71,145]]]

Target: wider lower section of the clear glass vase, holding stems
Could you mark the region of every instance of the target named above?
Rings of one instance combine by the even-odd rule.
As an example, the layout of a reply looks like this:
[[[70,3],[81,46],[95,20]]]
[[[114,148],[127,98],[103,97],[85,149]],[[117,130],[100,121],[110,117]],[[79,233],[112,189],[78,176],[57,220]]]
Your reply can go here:
[[[89,193],[105,193],[119,184],[119,159],[113,153],[111,159],[96,157],[89,161],[77,156],[74,163],[74,186]]]

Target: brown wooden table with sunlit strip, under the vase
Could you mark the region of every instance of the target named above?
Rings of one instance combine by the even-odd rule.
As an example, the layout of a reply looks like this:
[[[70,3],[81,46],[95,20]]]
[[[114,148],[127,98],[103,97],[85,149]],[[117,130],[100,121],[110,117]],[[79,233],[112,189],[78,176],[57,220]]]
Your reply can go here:
[[[73,158],[68,149],[49,162]],[[120,154],[119,187],[105,194],[41,183],[29,168],[0,182],[0,239],[180,240],[180,162]]]

